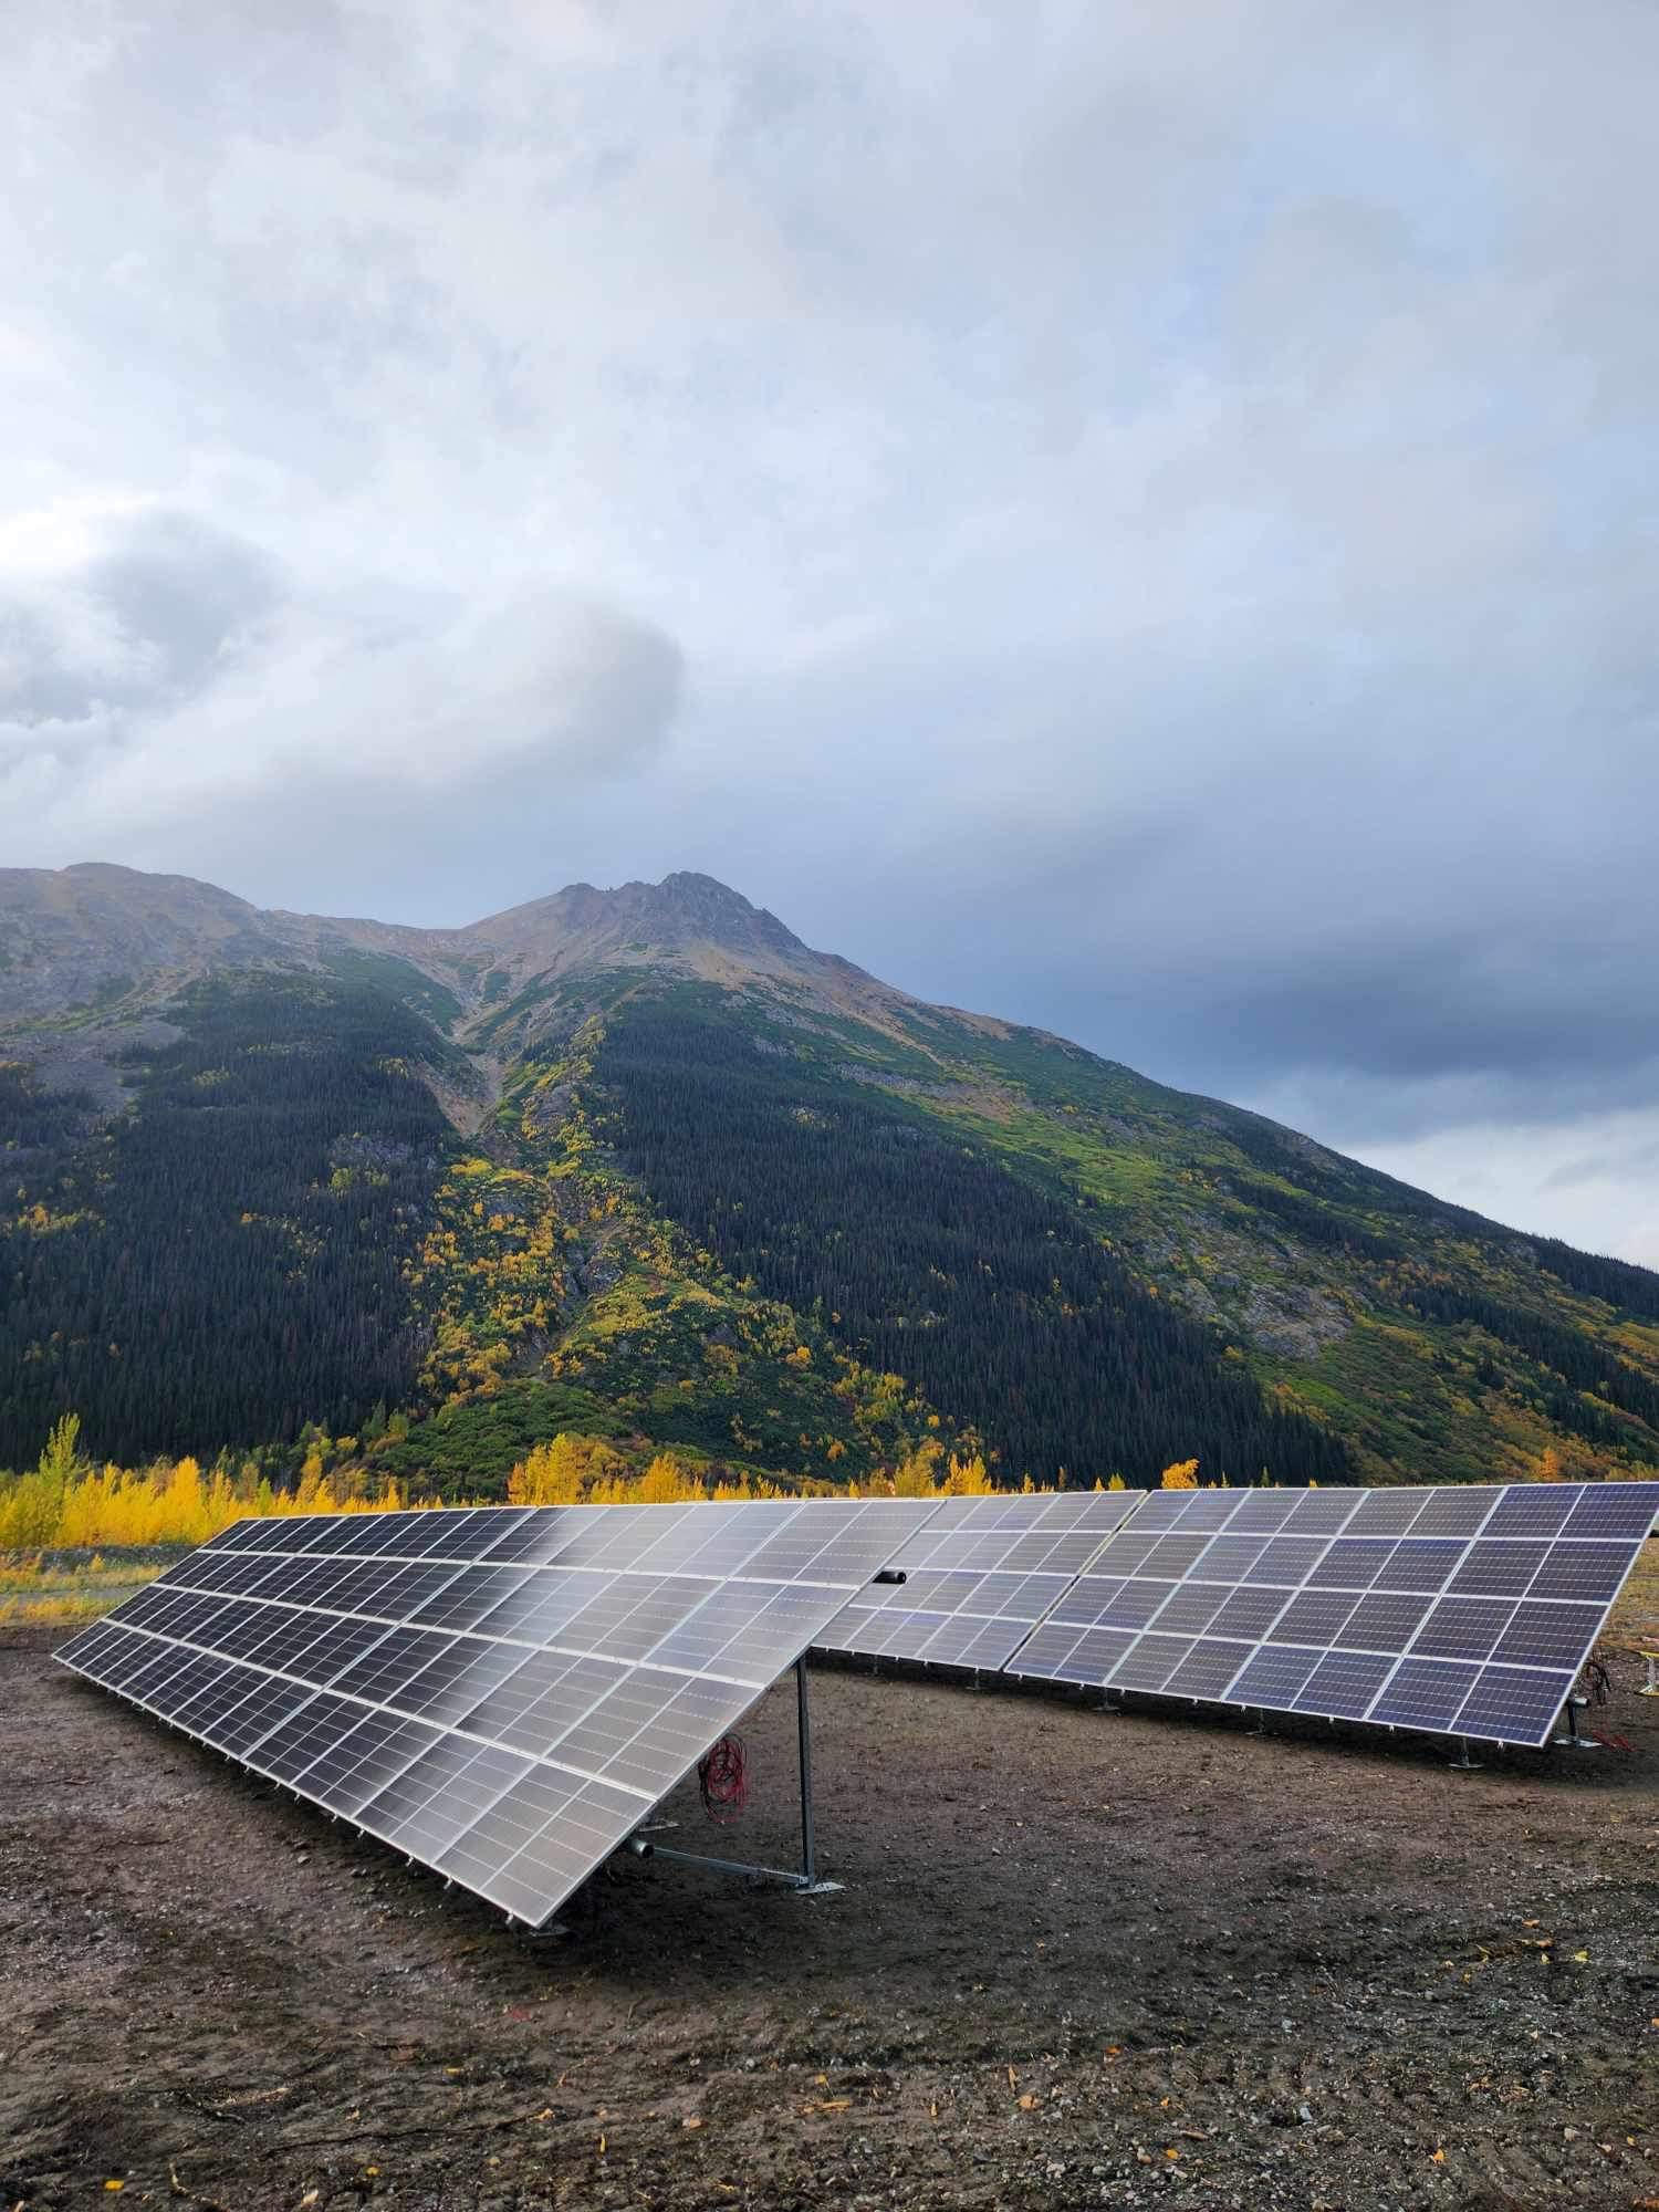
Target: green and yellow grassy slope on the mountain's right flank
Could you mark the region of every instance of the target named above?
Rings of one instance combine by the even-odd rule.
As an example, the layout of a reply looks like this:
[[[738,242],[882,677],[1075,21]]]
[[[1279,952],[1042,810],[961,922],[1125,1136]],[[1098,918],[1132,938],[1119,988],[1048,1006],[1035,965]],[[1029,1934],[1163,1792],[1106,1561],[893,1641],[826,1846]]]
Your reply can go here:
[[[1239,1345],[1267,1387],[1340,1429],[1363,1478],[1493,1480],[1526,1473],[1548,1444],[1659,1464],[1650,1418],[1568,1389],[1502,1334],[1413,1310],[1425,1287],[1451,1285],[1659,1380],[1659,1321],[1571,1290],[1548,1248],[1031,1033],[1004,1042],[962,1029],[940,1042],[962,1093],[929,1110],[1095,1199],[1148,1281]],[[975,1082],[993,1097],[975,1099]]]

